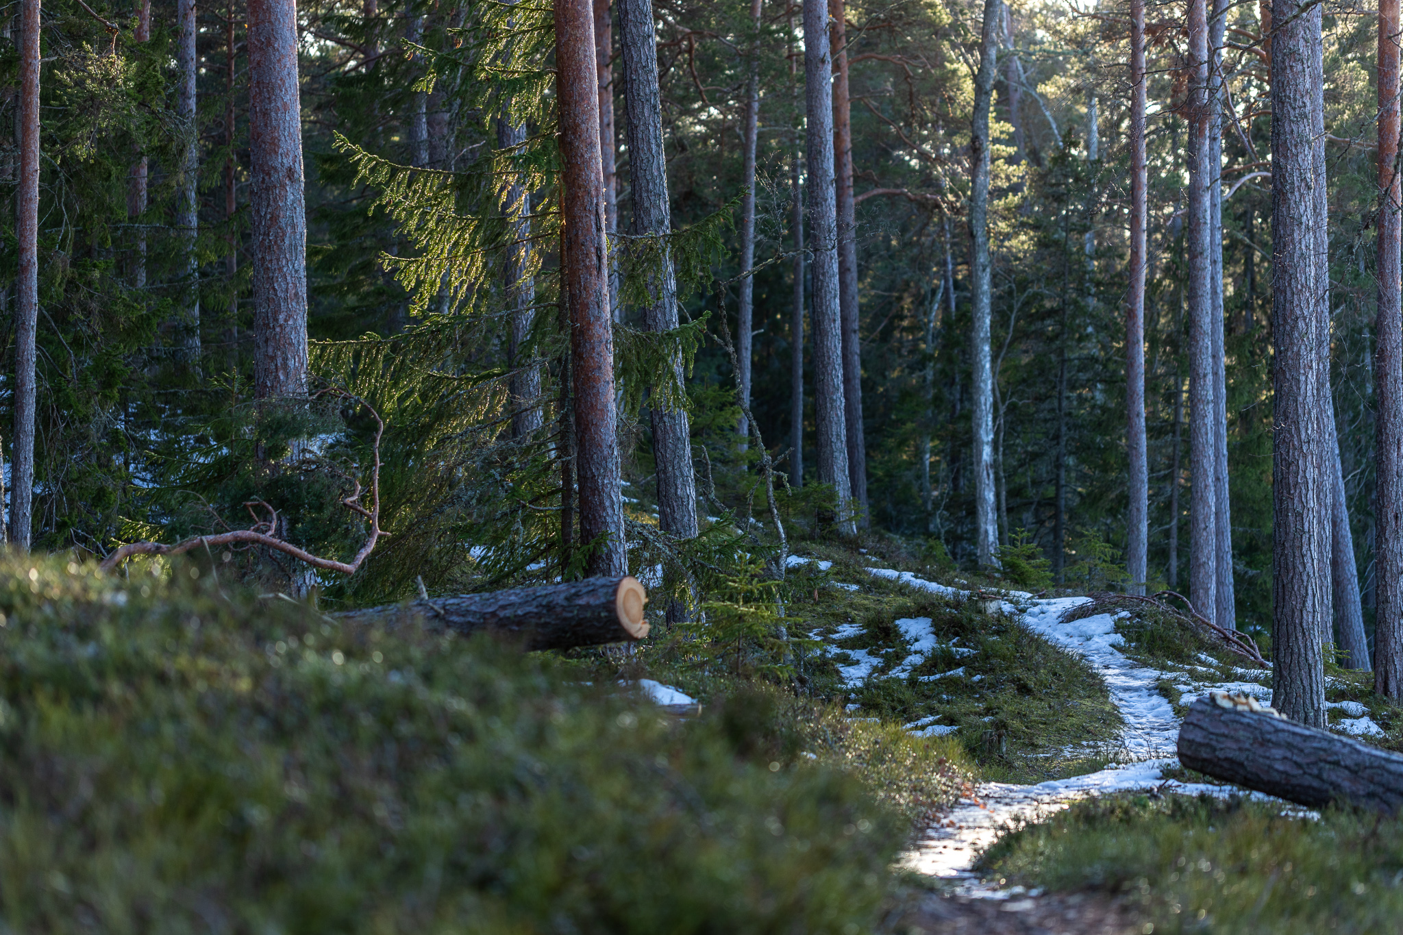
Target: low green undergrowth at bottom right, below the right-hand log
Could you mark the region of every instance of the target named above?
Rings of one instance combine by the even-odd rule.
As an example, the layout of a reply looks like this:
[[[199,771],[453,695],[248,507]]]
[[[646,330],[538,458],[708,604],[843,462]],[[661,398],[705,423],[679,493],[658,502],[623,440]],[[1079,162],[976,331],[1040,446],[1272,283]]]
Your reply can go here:
[[[1313,821],[1242,799],[1094,799],[1006,835],[982,869],[1122,894],[1155,932],[1362,935],[1403,918],[1403,820],[1345,810]]]

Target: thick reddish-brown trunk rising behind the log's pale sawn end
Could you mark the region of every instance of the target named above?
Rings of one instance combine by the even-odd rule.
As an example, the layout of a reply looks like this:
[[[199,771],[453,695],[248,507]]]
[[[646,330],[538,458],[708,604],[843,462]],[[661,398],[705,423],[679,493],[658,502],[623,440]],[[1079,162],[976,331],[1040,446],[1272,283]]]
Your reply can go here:
[[[586,564],[591,576],[619,576],[627,571],[627,541],[619,486],[593,8],[589,0],[554,0],[554,20],[579,544],[592,547]]]

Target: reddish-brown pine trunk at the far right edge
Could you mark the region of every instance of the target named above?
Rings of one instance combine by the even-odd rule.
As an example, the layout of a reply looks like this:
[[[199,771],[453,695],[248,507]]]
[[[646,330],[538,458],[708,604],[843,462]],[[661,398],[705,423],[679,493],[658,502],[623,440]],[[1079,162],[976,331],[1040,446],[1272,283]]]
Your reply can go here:
[[[1379,0],[1378,313],[1374,324],[1374,690],[1403,701],[1403,184],[1399,0]]]

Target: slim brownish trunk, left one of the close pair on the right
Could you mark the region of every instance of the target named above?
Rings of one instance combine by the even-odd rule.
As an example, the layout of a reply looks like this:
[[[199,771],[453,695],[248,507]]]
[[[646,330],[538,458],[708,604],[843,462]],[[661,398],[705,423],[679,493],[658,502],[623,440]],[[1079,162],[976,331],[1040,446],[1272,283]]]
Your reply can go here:
[[[1208,98],[1208,0],[1188,6],[1188,446],[1194,486],[1190,502],[1188,596],[1204,617],[1216,614],[1216,485],[1214,422],[1212,146]]]

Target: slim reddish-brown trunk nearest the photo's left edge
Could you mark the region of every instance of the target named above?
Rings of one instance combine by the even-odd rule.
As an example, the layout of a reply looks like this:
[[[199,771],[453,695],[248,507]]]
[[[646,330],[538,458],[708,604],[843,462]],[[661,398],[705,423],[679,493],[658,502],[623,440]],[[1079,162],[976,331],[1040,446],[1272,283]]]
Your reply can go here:
[[[10,467],[10,541],[28,551],[34,503],[35,329],[39,322],[39,0],[20,6],[20,191],[14,321],[14,435]]]

